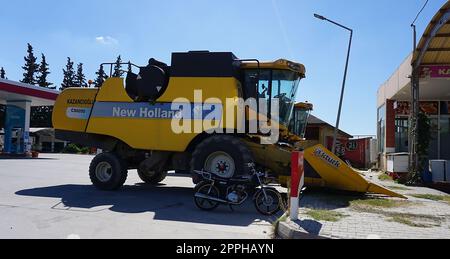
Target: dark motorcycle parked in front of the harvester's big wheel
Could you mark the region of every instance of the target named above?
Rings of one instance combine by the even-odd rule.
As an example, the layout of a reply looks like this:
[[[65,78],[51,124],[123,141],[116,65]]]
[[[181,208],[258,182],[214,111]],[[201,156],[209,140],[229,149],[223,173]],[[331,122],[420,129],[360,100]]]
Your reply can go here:
[[[195,205],[201,210],[212,211],[219,205],[242,205],[253,194],[256,210],[271,216],[285,209],[281,194],[266,184],[268,177],[258,172],[255,164],[248,164],[251,174],[240,178],[222,178],[210,172],[194,171],[203,180],[195,187]]]

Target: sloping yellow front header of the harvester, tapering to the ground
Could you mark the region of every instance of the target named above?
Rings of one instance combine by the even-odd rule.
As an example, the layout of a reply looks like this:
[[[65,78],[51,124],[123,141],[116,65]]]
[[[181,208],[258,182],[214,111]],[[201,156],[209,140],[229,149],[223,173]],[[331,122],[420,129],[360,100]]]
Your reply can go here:
[[[360,173],[322,145],[307,148],[305,150],[305,162],[305,183],[309,186],[382,194],[406,199],[401,194],[366,180]]]

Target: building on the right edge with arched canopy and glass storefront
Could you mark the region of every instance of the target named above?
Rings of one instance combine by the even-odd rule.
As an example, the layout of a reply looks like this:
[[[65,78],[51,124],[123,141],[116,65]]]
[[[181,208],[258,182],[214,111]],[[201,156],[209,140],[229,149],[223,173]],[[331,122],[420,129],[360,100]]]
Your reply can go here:
[[[405,157],[411,153],[413,67],[419,78],[419,111],[427,116],[431,125],[428,158],[450,160],[449,2],[433,17],[417,49],[378,89],[379,164],[380,169],[388,172],[389,162],[395,161],[395,156]]]

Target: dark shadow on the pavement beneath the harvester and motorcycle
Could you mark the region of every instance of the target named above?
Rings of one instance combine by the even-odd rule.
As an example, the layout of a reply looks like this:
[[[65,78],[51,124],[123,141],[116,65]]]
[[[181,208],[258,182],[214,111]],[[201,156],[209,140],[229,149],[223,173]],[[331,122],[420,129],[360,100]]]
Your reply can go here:
[[[21,190],[16,195],[60,198],[65,209],[81,209],[87,213],[98,212],[100,206],[111,206],[109,210],[119,213],[154,212],[155,220],[227,226],[276,220],[276,217],[258,214],[251,202],[234,207],[235,212],[227,206],[220,206],[213,212],[201,211],[194,204],[192,188],[187,187],[134,185],[124,186],[117,192],[103,192],[91,185],[60,185]]]

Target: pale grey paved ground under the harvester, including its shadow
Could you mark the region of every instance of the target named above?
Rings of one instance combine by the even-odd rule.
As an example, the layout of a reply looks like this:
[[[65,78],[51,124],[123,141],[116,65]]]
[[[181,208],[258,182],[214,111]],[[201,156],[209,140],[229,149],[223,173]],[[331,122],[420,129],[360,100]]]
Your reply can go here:
[[[140,184],[130,171],[118,192],[91,186],[91,156],[0,160],[0,238],[270,238],[270,221],[251,204],[199,211],[189,178]]]

